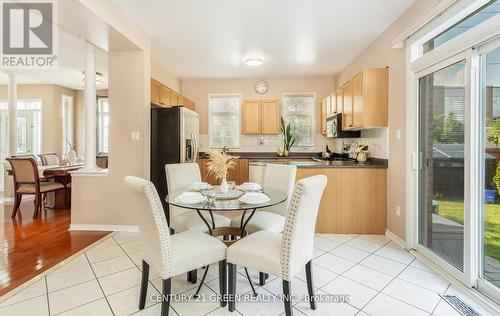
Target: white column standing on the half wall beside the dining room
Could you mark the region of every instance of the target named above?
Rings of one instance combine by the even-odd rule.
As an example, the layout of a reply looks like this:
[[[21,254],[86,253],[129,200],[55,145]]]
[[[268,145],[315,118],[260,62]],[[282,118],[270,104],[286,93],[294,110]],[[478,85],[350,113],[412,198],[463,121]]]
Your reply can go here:
[[[85,169],[96,170],[95,46],[85,42]]]

